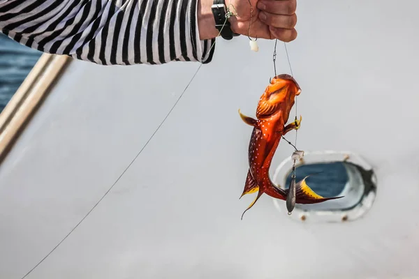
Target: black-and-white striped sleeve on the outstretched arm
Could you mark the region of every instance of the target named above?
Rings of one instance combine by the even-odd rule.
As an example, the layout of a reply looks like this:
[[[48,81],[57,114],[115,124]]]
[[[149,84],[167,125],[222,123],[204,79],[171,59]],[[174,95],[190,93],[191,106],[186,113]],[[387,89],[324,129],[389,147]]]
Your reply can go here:
[[[0,0],[0,30],[22,45],[101,65],[210,63],[198,0]]]

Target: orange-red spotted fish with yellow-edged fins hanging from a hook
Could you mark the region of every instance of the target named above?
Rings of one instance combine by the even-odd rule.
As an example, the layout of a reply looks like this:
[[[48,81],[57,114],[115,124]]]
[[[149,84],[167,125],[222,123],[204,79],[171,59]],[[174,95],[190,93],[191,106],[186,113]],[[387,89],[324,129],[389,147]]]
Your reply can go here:
[[[256,110],[257,119],[245,116],[239,110],[244,123],[253,126],[249,144],[249,171],[240,198],[258,191],[256,199],[243,212],[242,218],[244,213],[251,209],[263,193],[277,199],[287,199],[289,188],[284,190],[275,186],[270,179],[269,169],[281,137],[291,130],[300,128],[301,116],[300,120],[295,119],[295,121],[285,126],[291,108],[295,103],[295,96],[300,95],[300,92],[300,86],[291,75],[277,75],[266,87],[263,95],[260,96]],[[317,195],[309,188],[305,179],[307,177],[295,184],[295,203],[316,204],[329,199],[340,198]]]

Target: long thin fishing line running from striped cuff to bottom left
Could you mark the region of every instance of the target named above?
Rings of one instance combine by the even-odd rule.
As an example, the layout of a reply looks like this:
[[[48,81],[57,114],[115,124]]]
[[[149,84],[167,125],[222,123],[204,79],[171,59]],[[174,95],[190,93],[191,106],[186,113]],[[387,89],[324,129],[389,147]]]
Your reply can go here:
[[[135,160],[138,158],[138,156],[140,156],[140,154],[145,149],[145,147],[149,144],[149,142],[152,140],[152,138],[154,137],[154,135],[156,135],[157,131],[161,128],[161,126],[166,121],[166,119],[168,119],[168,116],[170,115],[170,113],[172,112],[172,110],[176,107],[177,103],[179,103],[179,100],[184,95],[186,89],[188,89],[189,85],[191,84],[191,82],[193,81],[193,79],[196,77],[196,74],[198,74],[198,71],[200,70],[201,66],[203,66],[202,63],[200,63],[200,66],[196,70],[195,74],[193,74],[191,80],[186,85],[184,91],[180,94],[179,98],[177,98],[175,104],[172,105],[172,108],[169,110],[168,114],[166,114],[166,117],[163,119],[163,121],[161,121],[160,125],[156,128],[156,130],[154,130],[154,133],[152,134],[152,136],[149,137],[149,140],[147,140],[147,142],[144,144],[144,146],[142,146],[142,149],[140,149],[140,151],[138,151],[137,155],[133,158],[133,160],[131,160],[131,163],[129,163],[128,166],[124,169],[124,172],[122,172],[122,174],[117,178],[117,180],[112,184],[112,186],[110,186],[110,188],[101,197],[101,199],[99,199],[98,202],[96,202],[96,204],[89,210],[89,212],[87,212],[87,214],[82,218],[82,220],[80,220],[80,222],[77,225],[75,225],[75,227],[73,227],[73,229],[71,229],[71,231],[66,236],[64,236],[64,239],[62,239],[61,241],[59,241],[59,243],[57,244],[57,246],[55,246],[43,259],[41,259],[41,262],[38,262],[38,264],[36,264],[36,266],[34,266],[34,268],[32,268],[25,276],[23,276],[22,279],[25,278],[25,277],[27,277],[29,275],[29,273],[31,273],[32,271],[34,271],[34,269],[36,269],[36,267],[38,267],[49,255],[51,255],[52,252],[54,252],[54,250],[56,250],[61,245],[61,243],[63,243],[68,238],[68,236],[70,236],[70,234],[72,232],[74,232],[75,229],[77,229],[77,227],[84,221],[84,219],[86,219],[87,216],[89,216],[90,213],[96,208],[96,206],[98,206],[98,204],[106,197],[106,195],[108,195],[108,193],[110,192],[110,190],[112,190],[112,188],[117,184],[117,182],[122,178],[122,176],[124,176],[124,174],[129,169],[129,167],[131,167],[131,165],[133,165],[133,163],[135,162]]]

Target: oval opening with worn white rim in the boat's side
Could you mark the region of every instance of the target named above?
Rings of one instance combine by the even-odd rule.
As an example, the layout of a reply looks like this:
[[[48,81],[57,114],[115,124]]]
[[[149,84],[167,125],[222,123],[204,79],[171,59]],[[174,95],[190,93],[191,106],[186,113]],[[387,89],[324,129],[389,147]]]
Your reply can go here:
[[[279,188],[288,188],[293,161],[284,160],[272,177]],[[319,204],[295,204],[291,218],[303,221],[342,222],[355,220],[371,208],[376,196],[376,177],[372,167],[350,152],[305,152],[296,165],[297,181],[307,178],[307,185],[323,197],[344,196]],[[284,201],[274,205],[287,214]]]

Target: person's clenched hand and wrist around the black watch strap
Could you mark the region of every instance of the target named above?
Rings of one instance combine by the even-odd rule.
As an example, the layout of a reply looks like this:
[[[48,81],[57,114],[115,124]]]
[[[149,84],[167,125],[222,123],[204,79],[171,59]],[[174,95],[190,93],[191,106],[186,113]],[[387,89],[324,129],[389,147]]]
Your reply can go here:
[[[214,27],[212,0],[199,0],[198,5],[200,38],[214,38],[219,31]],[[247,36],[251,20],[251,38],[277,38],[284,42],[297,38],[294,28],[297,24],[297,0],[250,0],[250,3],[249,0],[226,0],[226,5],[234,14],[237,13],[229,19],[235,33]],[[253,9],[250,17],[251,7]]]

